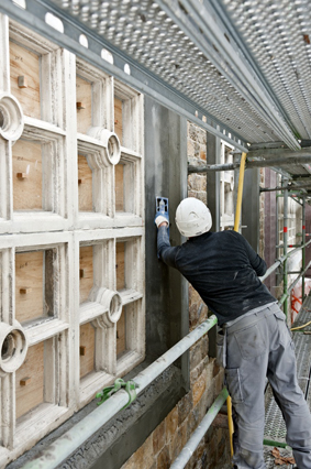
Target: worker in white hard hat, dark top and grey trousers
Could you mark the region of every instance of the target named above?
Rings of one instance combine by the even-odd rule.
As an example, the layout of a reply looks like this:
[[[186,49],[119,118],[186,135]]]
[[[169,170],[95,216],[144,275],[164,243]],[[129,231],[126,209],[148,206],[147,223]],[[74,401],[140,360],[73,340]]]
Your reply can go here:
[[[175,221],[188,240],[170,247],[168,215],[157,212],[157,252],[191,283],[223,329],[223,366],[234,417],[233,466],[266,468],[267,378],[281,408],[297,467],[311,469],[311,416],[298,385],[286,316],[258,279],[266,272],[265,261],[238,232],[210,232],[212,217],[201,200],[184,199]]]

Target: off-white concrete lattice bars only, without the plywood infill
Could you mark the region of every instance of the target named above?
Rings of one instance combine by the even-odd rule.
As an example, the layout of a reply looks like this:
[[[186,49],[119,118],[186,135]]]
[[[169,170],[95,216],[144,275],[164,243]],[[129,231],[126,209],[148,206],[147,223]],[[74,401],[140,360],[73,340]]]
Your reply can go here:
[[[41,119],[24,116],[22,139],[43,144],[42,211],[13,211],[12,143],[0,138],[0,321],[15,317],[15,253],[53,249],[54,316],[22,324],[29,347],[44,342],[44,403],[15,418],[15,373],[0,378],[0,467],[91,401],[104,385],[144,359],[144,105],[143,96],[45,39],[0,15],[0,92],[10,94],[9,37],[41,56]],[[76,75],[92,83],[92,127],[114,132],[114,100],[122,100],[124,209],[115,211],[114,166],[93,172],[96,210],[78,209],[78,149],[102,144],[77,133]],[[97,173],[97,174],[95,174]],[[116,292],[115,243],[125,242],[126,287]],[[116,320],[103,303],[79,304],[79,249],[93,246],[96,292],[120,298],[126,351],[116,357]],[[112,295],[112,296],[111,296]],[[119,299],[118,299],[119,301]],[[96,325],[95,372],[79,378],[79,327]]]

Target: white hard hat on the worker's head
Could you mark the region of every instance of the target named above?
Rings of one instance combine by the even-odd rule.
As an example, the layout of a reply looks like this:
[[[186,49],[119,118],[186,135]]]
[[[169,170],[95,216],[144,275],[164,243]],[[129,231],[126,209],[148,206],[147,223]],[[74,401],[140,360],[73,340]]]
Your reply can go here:
[[[178,230],[187,238],[202,234],[212,227],[212,216],[201,200],[188,197],[176,209],[175,221]]]

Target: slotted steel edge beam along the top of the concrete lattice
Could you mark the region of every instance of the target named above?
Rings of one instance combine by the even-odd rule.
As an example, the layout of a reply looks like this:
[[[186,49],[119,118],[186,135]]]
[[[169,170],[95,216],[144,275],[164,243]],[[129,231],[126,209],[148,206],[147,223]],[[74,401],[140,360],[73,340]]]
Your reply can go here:
[[[67,48],[99,69],[121,79],[129,86],[155,99],[167,109],[186,117],[233,146],[244,152],[248,151],[243,138],[237,135],[229,126],[211,117],[207,109],[203,109],[200,105],[182,95],[130,55],[115,47],[54,3],[46,0],[26,0],[26,10],[23,10],[11,0],[1,0],[0,12],[8,14],[13,20],[47,37],[60,47]],[[46,13],[52,13],[62,20],[64,25],[63,34],[46,24]],[[81,34],[87,34],[88,48],[84,47],[79,42]],[[113,54],[113,65],[101,57],[102,48]],[[131,75],[124,72],[125,64],[130,65]]]

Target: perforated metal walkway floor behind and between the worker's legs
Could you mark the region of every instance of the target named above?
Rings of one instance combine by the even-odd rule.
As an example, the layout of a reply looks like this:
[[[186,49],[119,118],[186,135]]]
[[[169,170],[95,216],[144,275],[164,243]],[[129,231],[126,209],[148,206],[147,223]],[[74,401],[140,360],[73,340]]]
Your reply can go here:
[[[311,320],[311,296],[308,296],[300,309],[300,313],[292,327],[298,327]],[[306,331],[311,331],[311,325],[303,328]],[[311,408],[311,392],[309,389],[310,369],[311,369],[311,336],[304,335],[302,331],[293,332],[293,342],[297,357],[297,375],[299,385],[302,389],[309,408]],[[266,424],[265,439],[286,443],[286,426],[279,407],[274,399],[270,386],[268,385],[266,395]],[[270,468],[291,468],[288,466],[275,466],[275,458],[271,455],[273,446],[265,446],[265,459],[267,469]]]

